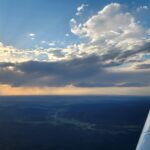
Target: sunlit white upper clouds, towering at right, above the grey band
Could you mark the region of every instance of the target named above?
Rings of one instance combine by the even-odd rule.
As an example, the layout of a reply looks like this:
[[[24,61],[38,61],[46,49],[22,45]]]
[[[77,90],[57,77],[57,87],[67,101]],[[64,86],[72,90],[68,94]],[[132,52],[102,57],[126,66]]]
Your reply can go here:
[[[81,6],[78,10],[84,8],[84,5]],[[104,60],[103,63],[120,64],[120,62],[129,61],[133,63],[133,60],[140,61],[144,54],[149,53],[148,43],[150,43],[150,39],[148,33],[150,29],[142,27],[136,18],[130,12],[125,11],[119,3],[105,6],[83,23],[78,23],[72,18],[70,24],[71,32],[86,42],[57,48],[58,42],[56,41],[41,41],[40,44],[49,45],[50,48],[44,49],[38,46],[33,50],[20,50],[11,46],[4,46],[1,43],[0,49],[3,52],[0,54],[0,57],[3,57],[1,60],[59,61],[95,54]],[[30,36],[34,37],[35,34],[30,33]],[[56,48],[53,48],[54,46]],[[143,50],[144,47],[147,50]]]

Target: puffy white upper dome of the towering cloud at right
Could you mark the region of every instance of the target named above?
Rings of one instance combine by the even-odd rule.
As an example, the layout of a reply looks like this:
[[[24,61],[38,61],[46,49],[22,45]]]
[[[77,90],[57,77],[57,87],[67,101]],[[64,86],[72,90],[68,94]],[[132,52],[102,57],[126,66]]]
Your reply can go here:
[[[102,47],[134,45],[142,40],[148,30],[145,30],[129,13],[124,12],[121,4],[111,3],[100,10],[96,15],[84,23],[77,23],[70,20],[71,32],[80,37],[89,38],[91,43],[99,44]]]

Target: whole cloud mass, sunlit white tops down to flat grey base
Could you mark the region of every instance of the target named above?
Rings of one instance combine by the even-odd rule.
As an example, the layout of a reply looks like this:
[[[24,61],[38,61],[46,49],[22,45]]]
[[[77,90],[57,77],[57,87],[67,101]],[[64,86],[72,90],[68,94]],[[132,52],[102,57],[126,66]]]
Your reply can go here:
[[[150,86],[149,27],[120,3],[110,3],[78,19],[88,4],[70,19],[67,38],[80,42],[40,49],[0,44],[0,83],[11,86],[148,87]],[[148,6],[140,6],[140,10]],[[136,10],[135,10],[136,11]],[[143,21],[143,20],[142,20]],[[144,21],[143,21],[144,22]],[[34,33],[29,34],[35,38]],[[55,46],[55,47],[54,47]]]

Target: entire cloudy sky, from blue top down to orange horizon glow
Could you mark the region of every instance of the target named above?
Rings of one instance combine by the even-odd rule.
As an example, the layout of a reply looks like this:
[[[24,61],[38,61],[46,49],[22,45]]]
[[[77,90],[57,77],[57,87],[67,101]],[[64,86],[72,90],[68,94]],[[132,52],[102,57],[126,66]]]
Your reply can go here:
[[[0,95],[150,95],[150,0],[0,0]]]

